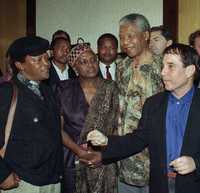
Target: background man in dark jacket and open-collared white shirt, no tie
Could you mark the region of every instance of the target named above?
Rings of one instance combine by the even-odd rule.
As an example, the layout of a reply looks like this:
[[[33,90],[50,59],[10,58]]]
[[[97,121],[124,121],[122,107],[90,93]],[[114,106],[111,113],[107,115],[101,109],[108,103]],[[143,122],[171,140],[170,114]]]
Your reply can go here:
[[[51,42],[51,67],[49,79],[45,81],[51,87],[54,87],[61,80],[76,77],[74,70],[67,64],[67,55],[70,50],[71,44],[66,38],[58,37]]]

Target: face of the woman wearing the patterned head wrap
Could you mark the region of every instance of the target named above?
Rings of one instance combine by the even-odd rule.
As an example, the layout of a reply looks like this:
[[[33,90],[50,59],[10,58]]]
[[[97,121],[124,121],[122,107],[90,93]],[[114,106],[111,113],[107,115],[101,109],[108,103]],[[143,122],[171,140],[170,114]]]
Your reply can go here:
[[[81,78],[94,78],[99,71],[97,56],[92,51],[86,51],[79,56],[74,67]]]

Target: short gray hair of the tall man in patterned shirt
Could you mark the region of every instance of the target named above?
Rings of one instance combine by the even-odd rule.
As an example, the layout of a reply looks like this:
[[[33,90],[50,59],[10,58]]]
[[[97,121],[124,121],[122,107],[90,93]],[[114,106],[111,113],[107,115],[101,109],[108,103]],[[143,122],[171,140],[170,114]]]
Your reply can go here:
[[[119,21],[119,25],[125,24],[136,24],[142,32],[148,31],[150,32],[150,24],[147,18],[138,13],[131,13],[122,17]]]

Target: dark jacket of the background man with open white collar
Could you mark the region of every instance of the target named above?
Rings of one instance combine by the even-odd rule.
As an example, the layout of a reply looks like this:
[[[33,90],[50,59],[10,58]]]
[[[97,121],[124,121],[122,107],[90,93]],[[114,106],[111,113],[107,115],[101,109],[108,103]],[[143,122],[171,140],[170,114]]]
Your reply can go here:
[[[45,80],[44,82],[46,82],[49,86],[54,88],[54,86],[60,82],[60,78],[59,78],[59,76],[56,72],[56,69],[54,68],[51,60],[50,60],[50,63],[51,63],[51,67],[49,69],[49,79]],[[69,79],[76,78],[76,73],[74,72],[74,70],[72,69],[71,66],[69,66],[68,74],[69,74]]]

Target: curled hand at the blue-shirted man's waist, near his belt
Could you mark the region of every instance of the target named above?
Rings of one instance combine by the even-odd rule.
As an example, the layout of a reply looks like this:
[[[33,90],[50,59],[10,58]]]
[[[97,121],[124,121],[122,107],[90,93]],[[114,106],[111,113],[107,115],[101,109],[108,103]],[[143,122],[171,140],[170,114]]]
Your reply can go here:
[[[182,156],[170,163],[176,172],[181,175],[189,174],[196,169],[195,162],[192,157]]]

